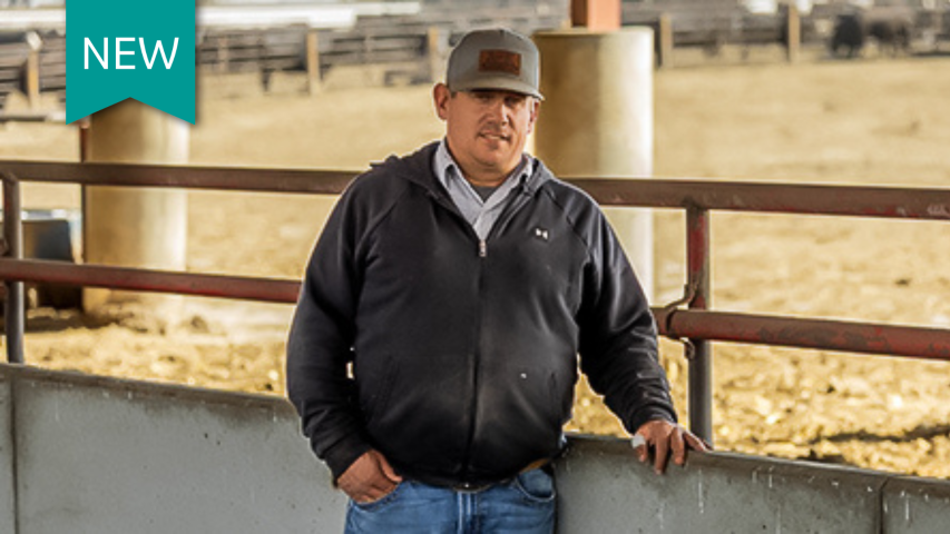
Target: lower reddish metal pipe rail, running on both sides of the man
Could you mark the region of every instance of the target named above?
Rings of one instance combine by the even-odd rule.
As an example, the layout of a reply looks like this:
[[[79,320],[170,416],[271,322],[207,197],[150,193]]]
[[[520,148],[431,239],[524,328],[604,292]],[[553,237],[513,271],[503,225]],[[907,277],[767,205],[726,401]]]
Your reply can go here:
[[[0,279],[294,304],[297,280],[0,258]],[[950,360],[950,330],[754,314],[652,308],[659,333],[786,347]]]

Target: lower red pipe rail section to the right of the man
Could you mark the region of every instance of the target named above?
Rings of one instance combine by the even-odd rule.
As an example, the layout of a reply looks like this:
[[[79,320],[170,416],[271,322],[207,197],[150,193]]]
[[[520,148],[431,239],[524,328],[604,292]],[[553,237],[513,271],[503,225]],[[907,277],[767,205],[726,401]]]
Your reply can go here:
[[[685,309],[654,313],[660,334],[674,338],[950,360],[950,329],[944,328]]]

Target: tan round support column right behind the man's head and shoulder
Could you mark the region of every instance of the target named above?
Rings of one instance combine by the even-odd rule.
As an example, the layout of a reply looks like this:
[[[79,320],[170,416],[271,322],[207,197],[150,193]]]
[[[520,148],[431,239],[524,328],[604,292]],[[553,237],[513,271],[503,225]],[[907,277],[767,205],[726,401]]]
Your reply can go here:
[[[533,39],[545,96],[535,135],[538,157],[560,177],[652,176],[653,30],[577,28]],[[653,298],[653,214],[605,211]]]

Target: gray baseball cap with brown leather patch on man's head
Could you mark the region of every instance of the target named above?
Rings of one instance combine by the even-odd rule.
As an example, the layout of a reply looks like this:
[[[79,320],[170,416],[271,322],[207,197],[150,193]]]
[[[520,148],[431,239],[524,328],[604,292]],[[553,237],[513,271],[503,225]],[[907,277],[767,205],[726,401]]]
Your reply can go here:
[[[452,91],[503,89],[541,97],[538,47],[511,30],[466,33],[449,56],[445,85]]]

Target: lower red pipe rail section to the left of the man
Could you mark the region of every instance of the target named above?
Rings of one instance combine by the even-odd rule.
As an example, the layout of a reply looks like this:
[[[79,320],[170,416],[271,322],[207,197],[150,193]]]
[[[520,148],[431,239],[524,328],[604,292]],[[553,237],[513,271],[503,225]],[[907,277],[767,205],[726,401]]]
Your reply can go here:
[[[300,283],[296,280],[74,265],[39,259],[0,259],[0,279],[285,304],[296,303],[300,293]]]

